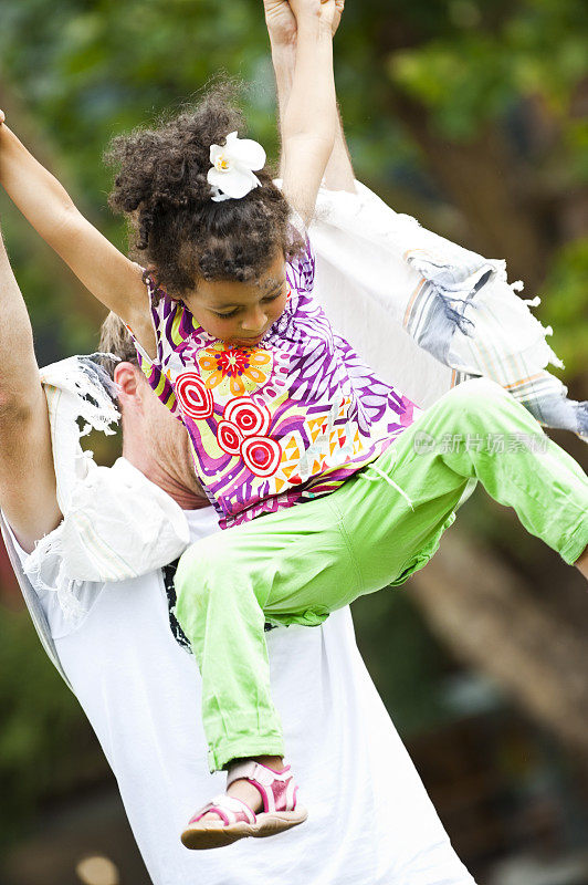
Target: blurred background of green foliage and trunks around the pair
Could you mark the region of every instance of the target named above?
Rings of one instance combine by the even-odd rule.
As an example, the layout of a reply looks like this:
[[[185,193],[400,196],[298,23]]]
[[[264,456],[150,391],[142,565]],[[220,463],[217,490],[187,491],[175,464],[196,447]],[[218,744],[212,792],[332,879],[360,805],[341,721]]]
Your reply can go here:
[[[250,134],[277,156],[261,0],[0,0],[0,21],[10,125],[122,248],[103,149],[219,70],[252,84]],[[549,368],[575,399],[588,398],[587,39],[577,0],[347,0],[336,38],[357,177],[426,227],[506,259],[524,296],[542,296],[534,313],[566,366]],[[99,305],[7,198],[1,211],[40,364],[95,350]],[[587,469],[584,444],[549,436]],[[108,462],[106,441],[92,447]],[[0,600],[0,882],[148,883],[3,550]],[[587,885],[588,597],[577,570],[479,489],[427,568],[354,615],[472,873],[487,885]]]

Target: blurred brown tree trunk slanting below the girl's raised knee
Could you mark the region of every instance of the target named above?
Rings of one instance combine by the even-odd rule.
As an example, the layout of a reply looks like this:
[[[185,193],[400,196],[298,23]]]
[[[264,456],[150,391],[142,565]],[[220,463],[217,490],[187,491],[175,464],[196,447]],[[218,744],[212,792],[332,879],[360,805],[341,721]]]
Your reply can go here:
[[[554,620],[533,587],[458,528],[410,584],[442,642],[495,679],[588,768],[588,659],[580,629]]]

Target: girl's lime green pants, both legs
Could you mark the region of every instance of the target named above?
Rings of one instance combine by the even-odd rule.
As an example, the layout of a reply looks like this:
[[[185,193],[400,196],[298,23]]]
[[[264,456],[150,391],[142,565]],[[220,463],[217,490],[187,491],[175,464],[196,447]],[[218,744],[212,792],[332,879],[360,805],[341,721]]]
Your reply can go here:
[[[314,626],[363,594],[402,584],[433,555],[476,480],[565,562],[588,545],[586,473],[498,384],[475,378],[336,492],[186,551],[177,615],[202,674],[211,771],[284,752],[264,622]]]

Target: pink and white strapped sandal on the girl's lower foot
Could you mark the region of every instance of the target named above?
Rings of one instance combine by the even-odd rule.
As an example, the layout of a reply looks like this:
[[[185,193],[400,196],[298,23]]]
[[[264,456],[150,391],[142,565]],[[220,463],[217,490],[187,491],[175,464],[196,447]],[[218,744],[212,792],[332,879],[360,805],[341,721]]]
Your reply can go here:
[[[264,839],[306,820],[306,809],[296,804],[298,788],[290,766],[279,772],[260,762],[238,762],[229,769],[227,787],[237,780],[246,780],[259,790],[263,811],[255,814],[245,802],[221,793],[197,811],[188,823],[181,834],[187,848],[220,848],[244,836]],[[209,811],[218,814],[220,821],[203,821]]]

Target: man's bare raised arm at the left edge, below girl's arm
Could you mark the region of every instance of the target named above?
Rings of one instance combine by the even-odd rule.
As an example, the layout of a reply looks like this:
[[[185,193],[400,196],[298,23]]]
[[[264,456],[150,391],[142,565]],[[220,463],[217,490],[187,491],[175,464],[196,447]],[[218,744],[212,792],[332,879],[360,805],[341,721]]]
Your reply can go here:
[[[0,509],[27,552],[61,521],[31,323],[1,231]]]

